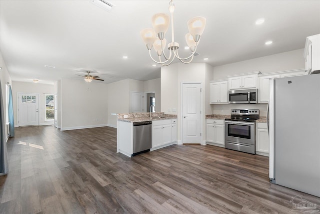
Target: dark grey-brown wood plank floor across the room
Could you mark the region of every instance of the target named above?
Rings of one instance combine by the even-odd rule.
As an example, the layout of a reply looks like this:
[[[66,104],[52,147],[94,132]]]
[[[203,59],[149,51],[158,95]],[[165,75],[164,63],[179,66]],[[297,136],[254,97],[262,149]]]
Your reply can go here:
[[[172,145],[132,158],[116,129],[20,127],[7,142],[0,213],[299,213],[320,198],[271,184],[268,158],[210,145]]]

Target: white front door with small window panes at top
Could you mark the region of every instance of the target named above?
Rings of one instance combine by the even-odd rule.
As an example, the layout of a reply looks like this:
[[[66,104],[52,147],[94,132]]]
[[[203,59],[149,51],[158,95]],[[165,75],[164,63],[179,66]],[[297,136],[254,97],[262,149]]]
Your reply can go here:
[[[39,125],[39,95],[18,93],[19,126]]]

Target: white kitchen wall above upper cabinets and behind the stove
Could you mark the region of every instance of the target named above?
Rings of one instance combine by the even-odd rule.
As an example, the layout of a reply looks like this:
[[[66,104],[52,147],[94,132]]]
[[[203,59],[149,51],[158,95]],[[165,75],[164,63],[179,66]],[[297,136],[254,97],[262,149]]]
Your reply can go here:
[[[213,67],[213,79],[227,79],[227,76],[260,71],[262,74],[304,68],[303,49],[245,60]],[[212,114],[230,114],[230,109],[259,109],[260,116],[266,116],[267,104],[211,104]]]

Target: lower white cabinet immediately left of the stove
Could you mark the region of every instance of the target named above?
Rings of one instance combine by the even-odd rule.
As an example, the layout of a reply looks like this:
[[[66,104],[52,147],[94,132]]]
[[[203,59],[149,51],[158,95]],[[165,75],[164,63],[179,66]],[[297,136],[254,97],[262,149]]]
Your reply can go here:
[[[224,120],[206,119],[206,142],[224,147]]]

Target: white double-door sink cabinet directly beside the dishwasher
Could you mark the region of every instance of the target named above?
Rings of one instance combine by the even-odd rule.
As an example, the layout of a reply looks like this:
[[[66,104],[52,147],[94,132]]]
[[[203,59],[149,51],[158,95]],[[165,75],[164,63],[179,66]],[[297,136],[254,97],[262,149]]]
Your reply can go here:
[[[151,148],[171,143],[171,120],[152,121]]]

